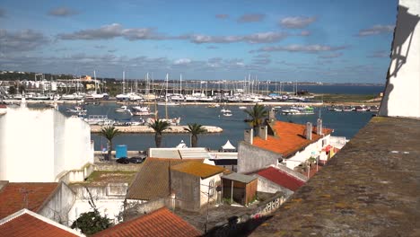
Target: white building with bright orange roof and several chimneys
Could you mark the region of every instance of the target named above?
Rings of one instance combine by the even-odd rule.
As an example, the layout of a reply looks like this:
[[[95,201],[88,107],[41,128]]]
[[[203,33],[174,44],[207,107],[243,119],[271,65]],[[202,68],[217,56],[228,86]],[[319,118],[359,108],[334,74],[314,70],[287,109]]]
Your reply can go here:
[[[321,119],[316,127],[272,120],[258,129],[258,136],[252,129],[246,130],[244,141],[239,143],[238,172],[258,171],[269,165],[293,170],[311,157],[327,159],[321,151],[329,145],[333,130],[323,128]]]

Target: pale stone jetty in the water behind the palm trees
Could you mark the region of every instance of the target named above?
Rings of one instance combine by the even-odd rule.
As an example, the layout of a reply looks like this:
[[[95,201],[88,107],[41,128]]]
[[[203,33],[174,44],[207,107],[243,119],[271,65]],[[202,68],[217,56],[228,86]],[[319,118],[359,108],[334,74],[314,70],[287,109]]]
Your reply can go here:
[[[100,133],[102,126],[91,125],[91,133]],[[144,125],[132,125],[132,126],[115,126],[121,133],[135,133],[135,134],[148,134],[154,133],[153,128]],[[171,126],[169,129],[163,131],[163,133],[188,133],[184,128],[188,128],[186,125]],[[207,131],[206,133],[221,133],[223,132],[222,127],[215,126],[203,126]]]

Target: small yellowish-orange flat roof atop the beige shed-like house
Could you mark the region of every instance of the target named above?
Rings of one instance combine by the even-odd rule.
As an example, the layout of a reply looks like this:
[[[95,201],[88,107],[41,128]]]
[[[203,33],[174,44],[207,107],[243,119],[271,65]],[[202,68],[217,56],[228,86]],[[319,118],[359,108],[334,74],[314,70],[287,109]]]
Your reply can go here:
[[[183,162],[171,167],[171,170],[188,173],[206,179],[224,171],[222,167],[203,162]]]

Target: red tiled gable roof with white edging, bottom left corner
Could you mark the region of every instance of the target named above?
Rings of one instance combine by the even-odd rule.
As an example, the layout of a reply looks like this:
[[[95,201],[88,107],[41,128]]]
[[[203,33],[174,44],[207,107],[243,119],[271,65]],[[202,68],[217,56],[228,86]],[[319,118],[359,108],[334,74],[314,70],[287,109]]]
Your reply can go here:
[[[44,216],[28,212],[28,210],[22,210],[14,215],[16,216],[11,215],[0,221],[1,236],[81,236],[62,224],[54,223]]]

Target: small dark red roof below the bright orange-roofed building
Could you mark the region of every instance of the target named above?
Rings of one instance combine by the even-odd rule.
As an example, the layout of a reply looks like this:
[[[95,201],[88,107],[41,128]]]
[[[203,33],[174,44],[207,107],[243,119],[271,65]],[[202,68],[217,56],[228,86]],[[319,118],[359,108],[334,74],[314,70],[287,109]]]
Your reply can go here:
[[[281,171],[279,169],[276,169],[272,166],[266,169],[260,170],[257,173],[259,176],[262,176],[266,178],[267,180],[271,180],[272,182],[275,182],[276,184],[286,189],[290,189],[293,192],[301,188],[301,186],[305,183],[303,180],[295,178],[292,175],[284,171]]]

